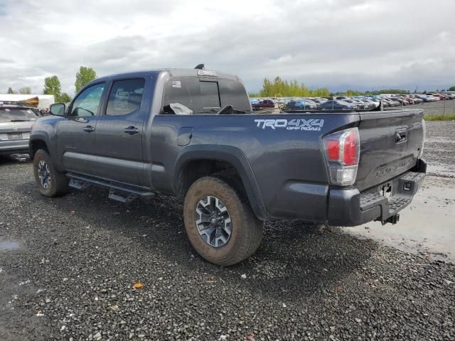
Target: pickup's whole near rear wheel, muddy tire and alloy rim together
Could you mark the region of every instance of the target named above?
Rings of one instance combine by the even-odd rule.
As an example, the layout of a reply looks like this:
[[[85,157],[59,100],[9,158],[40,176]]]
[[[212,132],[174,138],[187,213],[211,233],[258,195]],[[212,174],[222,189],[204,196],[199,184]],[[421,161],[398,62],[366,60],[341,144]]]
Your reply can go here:
[[[219,178],[207,176],[191,185],[183,217],[194,249],[213,264],[239,263],[254,254],[262,240],[262,222],[246,197]]]

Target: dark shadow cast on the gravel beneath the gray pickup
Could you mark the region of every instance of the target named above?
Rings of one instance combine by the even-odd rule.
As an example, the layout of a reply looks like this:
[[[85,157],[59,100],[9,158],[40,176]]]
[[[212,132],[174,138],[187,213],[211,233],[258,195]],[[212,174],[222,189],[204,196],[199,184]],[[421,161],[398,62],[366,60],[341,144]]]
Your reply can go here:
[[[85,224],[127,237],[145,250],[141,266],[147,267],[148,261],[164,256],[166,263],[178,264],[179,271],[188,276],[203,274],[208,283],[247,288],[274,298],[295,299],[316,291],[336,291],[338,283],[361,269],[361,264],[378,247],[370,239],[357,239],[340,229],[320,232],[301,222],[267,222],[256,254],[223,268],[209,264],[193,250],[183,227],[183,203],[175,197],[159,195],[154,200],[135,200],[124,205],[108,200],[107,190],[100,188],[53,199],[39,195],[31,182],[20,184],[17,189],[34,202],[41,202],[40,205],[52,205],[52,210],[65,217],[74,211]],[[109,241],[115,249],[116,239],[109,237]]]

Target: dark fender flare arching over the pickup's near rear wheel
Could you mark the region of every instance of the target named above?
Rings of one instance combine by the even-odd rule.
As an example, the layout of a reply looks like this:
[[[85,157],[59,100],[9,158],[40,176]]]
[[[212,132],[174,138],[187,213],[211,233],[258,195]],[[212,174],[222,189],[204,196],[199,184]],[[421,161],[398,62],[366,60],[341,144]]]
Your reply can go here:
[[[248,161],[247,156],[245,156],[245,153],[233,146],[204,144],[183,148],[177,157],[173,169],[172,178],[174,191],[176,191],[178,187],[178,175],[181,173],[183,167],[186,166],[188,162],[195,160],[214,160],[230,163],[240,175],[243,187],[245,188],[245,192],[247,193],[248,200],[250,200],[250,205],[253,212],[255,212],[255,215],[259,220],[269,219],[250,162]]]

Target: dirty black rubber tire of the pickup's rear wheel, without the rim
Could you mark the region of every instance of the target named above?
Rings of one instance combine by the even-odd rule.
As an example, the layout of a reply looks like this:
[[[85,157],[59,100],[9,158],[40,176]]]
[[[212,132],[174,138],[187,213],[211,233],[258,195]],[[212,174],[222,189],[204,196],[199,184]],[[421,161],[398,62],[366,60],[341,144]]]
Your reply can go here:
[[[239,191],[240,192],[240,191]],[[220,178],[206,176],[188,189],[183,207],[186,233],[194,249],[205,260],[220,266],[230,266],[255,253],[262,240],[262,222],[252,212],[250,203]],[[200,200],[213,196],[223,202],[231,221],[230,237],[221,247],[213,247],[201,236],[196,220]]]

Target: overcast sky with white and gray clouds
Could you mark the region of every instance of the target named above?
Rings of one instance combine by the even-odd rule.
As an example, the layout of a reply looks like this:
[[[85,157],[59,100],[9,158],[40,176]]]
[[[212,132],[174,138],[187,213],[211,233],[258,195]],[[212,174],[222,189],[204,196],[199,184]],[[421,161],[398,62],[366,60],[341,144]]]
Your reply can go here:
[[[455,85],[454,0],[0,0],[0,93],[159,67],[279,75],[332,91]]]

